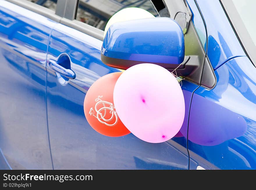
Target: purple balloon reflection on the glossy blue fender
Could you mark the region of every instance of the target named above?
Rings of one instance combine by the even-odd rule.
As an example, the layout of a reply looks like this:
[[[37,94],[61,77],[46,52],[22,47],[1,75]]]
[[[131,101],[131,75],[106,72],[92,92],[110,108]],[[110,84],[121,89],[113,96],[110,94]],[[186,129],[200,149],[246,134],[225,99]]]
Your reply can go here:
[[[122,75],[121,75],[122,76]],[[198,145],[215,146],[243,136],[247,131],[244,118],[198,94],[193,95],[189,114],[188,139]],[[187,128],[180,132],[186,137]]]

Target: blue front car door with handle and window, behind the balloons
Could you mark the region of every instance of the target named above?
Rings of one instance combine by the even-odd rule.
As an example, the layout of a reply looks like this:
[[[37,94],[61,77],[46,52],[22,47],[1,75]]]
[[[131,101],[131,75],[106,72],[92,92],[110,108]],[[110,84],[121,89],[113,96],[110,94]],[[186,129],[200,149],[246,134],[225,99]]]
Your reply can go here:
[[[188,169],[187,140],[181,132],[172,140],[156,144],[133,134],[113,138],[97,133],[84,116],[83,101],[89,87],[101,76],[120,72],[101,61],[100,29],[111,15],[129,6],[158,15],[151,1],[138,2],[102,1],[98,6],[98,1],[89,0],[79,1],[76,8],[75,3],[67,1],[69,11],[54,26],[47,54],[47,116],[54,169]],[[77,20],[73,20],[76,14],[70,10],[76,9]],[[60,74],[56,67],[68,73]],[[197,87],[187,81],[182,84],[185,135],[192,92]]]

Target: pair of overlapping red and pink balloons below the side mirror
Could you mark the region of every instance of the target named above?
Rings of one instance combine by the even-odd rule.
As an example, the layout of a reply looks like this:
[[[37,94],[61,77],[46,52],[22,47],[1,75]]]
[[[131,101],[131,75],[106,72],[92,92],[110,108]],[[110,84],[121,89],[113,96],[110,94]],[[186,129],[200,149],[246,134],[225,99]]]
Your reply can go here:
[[[142,63],[99,78],[84,99],[84,113],[97,132],[130,132],[146,142],[164,142],[180,130],[185,114],[182,89],[165,68]]]

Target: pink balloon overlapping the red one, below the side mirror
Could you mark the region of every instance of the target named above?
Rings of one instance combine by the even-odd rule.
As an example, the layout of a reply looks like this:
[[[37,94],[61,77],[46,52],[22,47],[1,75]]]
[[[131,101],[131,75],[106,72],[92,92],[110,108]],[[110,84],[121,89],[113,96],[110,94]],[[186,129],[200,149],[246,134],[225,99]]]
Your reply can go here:
[[[123,72],[113,101],[125,127],[146,142],[173,138],[184,120],[182,89],[173,74],[159,65],[143,63]]]

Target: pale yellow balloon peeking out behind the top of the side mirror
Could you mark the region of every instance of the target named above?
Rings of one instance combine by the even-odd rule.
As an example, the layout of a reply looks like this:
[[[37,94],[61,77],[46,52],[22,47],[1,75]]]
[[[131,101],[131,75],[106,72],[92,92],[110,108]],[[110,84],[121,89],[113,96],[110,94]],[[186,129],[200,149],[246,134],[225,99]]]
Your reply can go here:
[[[135,19],[147,19],[147,18],[154,18],[155,16],[151,14],[150,12],[137,8],[137,7],[129,7],[122,9],[115,13],[108,21],[106,24],[106,28],[104,30],[104,37],[109,29],[109,27],[117,22],[122,22],[122,21],[130,21],[130,20],[135,20]]]

